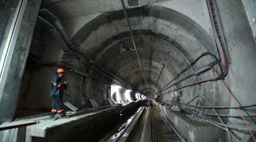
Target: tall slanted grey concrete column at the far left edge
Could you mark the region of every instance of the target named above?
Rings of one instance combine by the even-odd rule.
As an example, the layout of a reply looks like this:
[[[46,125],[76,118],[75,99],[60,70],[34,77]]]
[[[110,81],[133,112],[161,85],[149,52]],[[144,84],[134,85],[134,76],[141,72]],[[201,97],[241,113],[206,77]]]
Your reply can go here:
[[[41,0],[20,0],[6,26],[0,61],[0,123],[11,121],[19,98],[31,39]]]

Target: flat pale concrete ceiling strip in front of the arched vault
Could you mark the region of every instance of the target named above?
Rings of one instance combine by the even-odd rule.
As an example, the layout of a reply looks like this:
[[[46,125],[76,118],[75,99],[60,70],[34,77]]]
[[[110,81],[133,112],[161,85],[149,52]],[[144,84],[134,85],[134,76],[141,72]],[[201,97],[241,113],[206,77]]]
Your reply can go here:
[[[143,0],[138,7],[161,3],[170,0]],[[126,7],[130,8],[127,1],[124,1]],[[104,13],[122,10],[120,0],[102,1],[102,0],[43,0],[42,5],[53,12],[60,19],[83,16],[86,14]]]

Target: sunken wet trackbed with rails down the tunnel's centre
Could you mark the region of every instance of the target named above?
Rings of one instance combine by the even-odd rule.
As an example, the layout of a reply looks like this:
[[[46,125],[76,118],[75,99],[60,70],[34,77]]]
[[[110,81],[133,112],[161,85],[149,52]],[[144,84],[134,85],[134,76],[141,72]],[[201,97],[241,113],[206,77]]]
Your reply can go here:
[[[120,127],[100,141],[181,141],[159,114],[159,109],[147,101]]]

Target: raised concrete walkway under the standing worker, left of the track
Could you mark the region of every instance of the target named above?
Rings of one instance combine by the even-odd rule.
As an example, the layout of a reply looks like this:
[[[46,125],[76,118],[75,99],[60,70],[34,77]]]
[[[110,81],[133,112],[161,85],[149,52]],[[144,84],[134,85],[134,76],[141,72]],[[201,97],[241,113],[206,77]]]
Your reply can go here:
[[[48,113],[22,118],[0,126],[13,126],[29,122],[37,122],[27,127],[0,131],[1,141],[52,141],[75,140],[83,141],[89,135],[108,127],[119,119],[120,111],[129,112],[141,105],[142,101],[129,105],[109,105],[85,111],[67,112],[68,119],[50,120]],[[59,117],[59,116],[55,116]],[[81,132],[82,131],[82,132]],[[78,135],[80,134],[80,135]]]

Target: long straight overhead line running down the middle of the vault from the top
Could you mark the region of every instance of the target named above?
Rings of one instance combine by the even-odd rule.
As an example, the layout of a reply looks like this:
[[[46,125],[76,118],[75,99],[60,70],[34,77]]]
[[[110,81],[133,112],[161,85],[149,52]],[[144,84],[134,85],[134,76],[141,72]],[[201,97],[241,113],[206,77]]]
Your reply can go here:
[[[134,38],[133,38],[133,33],[132,33],[132,28],[131,28],[131,24],[130,24],[130,21],[129,21],[129,17],[127,15],[127,12],[126,12],[126,8],[125,8],[125,5],[124,5],[124,1],[121,0],[122,2],[122,6],[123,6],[123,10],[124,10],[124,15],[125,15],[125,19],[128,23],[128,26],[129,26],[129,31],[130,31],[130,34],[131,34],[131,38],[132,38],[132,43],[133,43],[133,46],[134,46],[134,49],[135,49],[135,52],[136,52],[136,55],[137,55],[137,58],[138,58],[138,61],[139,61],[139,64],[140,64],[140,69],[141,69],[141,72],[142,72],[142,75],[143,75],[143,78],[144,78],[144,81],[147,85],[147,89],[148,89],[148,83],[146,81],[146,77],[144,75],[144,72],[143,72],[143,69],[142,69],[142,66],[141,66],[141,63],[140,63],[140,57],[139,57],[139,54],[138,54],[138,51],[137,51],[137,48],[135,46],[135,42],[134,42]]]

